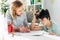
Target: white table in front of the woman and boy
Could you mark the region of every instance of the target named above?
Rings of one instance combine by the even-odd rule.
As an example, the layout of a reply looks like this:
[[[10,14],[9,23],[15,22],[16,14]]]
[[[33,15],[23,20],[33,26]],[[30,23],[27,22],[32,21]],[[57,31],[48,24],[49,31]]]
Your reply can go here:
[[[30,33],[15,33],[14,37],[9,36],[6,40],[60,40],[60,37],[48,35],[44,31],[31,31]]]

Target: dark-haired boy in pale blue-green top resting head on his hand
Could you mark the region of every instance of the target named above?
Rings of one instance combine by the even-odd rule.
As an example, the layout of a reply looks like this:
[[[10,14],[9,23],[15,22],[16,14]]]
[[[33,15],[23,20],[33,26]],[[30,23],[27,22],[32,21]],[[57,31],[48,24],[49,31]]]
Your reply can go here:
[[[42,30],[45,30],[49,34],[52,35],[56,34],[60,36],[60,28],[55,23],[52,23],[49,11],[47,9],[46,10],[42,9],[38,15],[34,14],[31,29],[34,28],[36,19],[38,19],[44,25],[44,27],[41,27]]]

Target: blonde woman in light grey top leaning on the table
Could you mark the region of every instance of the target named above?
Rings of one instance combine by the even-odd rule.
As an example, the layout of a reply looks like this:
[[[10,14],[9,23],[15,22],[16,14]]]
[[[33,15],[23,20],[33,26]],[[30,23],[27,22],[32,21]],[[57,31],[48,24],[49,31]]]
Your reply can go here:
[[[13,24],[13,30],[19,32],[28,32],[26,13],[23,12],[24,7],[20,1],[14,1],[10,10],[6,13],[8,25]]]

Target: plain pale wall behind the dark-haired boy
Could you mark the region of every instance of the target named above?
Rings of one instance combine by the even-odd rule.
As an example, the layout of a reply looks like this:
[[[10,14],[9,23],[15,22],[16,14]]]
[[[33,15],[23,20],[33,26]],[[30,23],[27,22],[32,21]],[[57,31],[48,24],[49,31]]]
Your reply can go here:
[[[54,0],[51,3],[51,0],[44,0],[44,8],[47,8],[50,12],[51,19],[53,22],[60,26],[60,0]]]

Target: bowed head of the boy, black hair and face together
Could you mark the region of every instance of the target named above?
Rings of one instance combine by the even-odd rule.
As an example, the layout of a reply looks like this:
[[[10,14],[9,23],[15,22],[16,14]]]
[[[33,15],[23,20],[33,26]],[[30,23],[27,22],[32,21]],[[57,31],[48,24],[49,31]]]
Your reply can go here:
[[[42,9],[39,15],[36,16],[36,18],[43,24],[47,25],[48,22],[50,21],[50,14],[49,11],[46,9]]]

